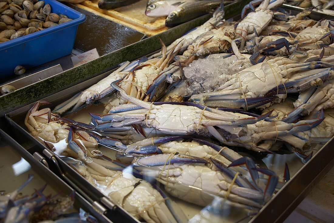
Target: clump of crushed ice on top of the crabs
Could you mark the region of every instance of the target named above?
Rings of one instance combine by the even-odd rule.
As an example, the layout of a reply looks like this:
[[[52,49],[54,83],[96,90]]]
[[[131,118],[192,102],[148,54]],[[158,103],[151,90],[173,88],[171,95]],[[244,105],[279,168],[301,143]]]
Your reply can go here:
[[[236,56],[223,58],[226,54],[211,54],[207,58],[193,61],[189,67],[184,67],[187,78],[186,95],[211,92],[227,81],[227,75],[241,70]]]

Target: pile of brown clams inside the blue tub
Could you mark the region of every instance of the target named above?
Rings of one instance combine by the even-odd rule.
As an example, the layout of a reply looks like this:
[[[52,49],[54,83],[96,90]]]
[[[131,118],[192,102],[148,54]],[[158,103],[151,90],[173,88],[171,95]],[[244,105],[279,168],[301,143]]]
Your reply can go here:
[[[4,0],[0,2],[0,43],[50,28],[72,19],[51,13],[44,1]]]

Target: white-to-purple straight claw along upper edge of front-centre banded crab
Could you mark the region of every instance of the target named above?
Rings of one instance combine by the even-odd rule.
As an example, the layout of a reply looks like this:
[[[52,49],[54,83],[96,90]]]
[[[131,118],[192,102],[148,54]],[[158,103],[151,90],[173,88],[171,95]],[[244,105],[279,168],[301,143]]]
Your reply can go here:
[[[206,159],[184,154],[158,154],[153,156],[144,156],[137,159],[136,164],[142,166],[162,166],[174,163],[208,163]]]

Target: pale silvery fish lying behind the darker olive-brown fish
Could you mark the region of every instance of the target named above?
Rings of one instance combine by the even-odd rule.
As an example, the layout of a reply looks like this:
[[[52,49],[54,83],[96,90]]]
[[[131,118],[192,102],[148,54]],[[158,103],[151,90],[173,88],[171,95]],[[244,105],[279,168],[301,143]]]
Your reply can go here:
[[[148,0],[145,15],[150,17],[167,16],[186,0]]]

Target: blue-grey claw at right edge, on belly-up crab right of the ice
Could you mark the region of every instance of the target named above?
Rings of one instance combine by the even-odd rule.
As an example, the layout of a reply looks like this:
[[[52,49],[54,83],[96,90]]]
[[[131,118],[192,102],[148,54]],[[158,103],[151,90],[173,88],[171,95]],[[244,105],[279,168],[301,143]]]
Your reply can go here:
[[[311,63],[316,63],[313,64],[315,69],[316,67],[327,65],[325,63],[322,63],[321,61],[319,62],[311,62]],[[309,64],[309,63],[305,63]],[[303,90],[306,90],[310,87],[317,86],[317,81],[321,79],[322,81],[319,82],[320,84],[323,83],[323,81],[327,80],[328,77],[333,73],[333,67],[330,68],[325,68],[325,69],[319,69],[317,70],[316,74],[310,75],[308,77],[301,78],[299,80],[295,81],[289,81],[284,84],[278,85],[278,87],[274,87],[271,90],[269,90],[267,93],[265,93],[265,96],[272,96],[276,94],[286,94],[286,93],[297,93]]]

